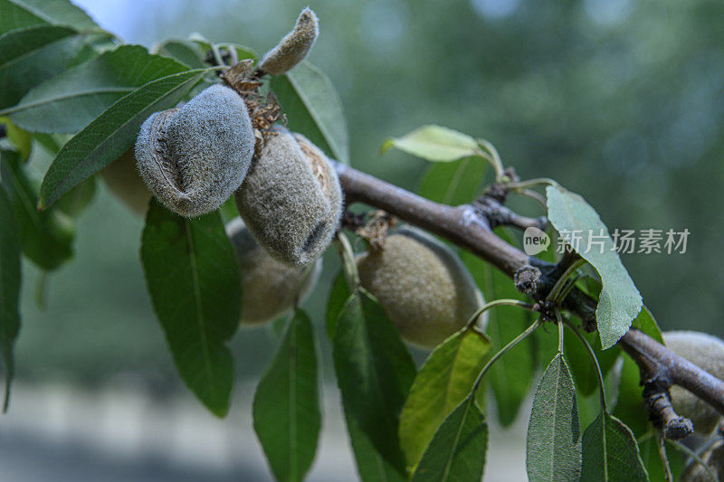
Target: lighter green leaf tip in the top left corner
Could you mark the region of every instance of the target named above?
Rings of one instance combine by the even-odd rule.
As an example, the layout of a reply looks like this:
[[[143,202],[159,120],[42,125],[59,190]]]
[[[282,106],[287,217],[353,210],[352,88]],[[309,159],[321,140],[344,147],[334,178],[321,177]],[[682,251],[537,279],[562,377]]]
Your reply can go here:
[[[0,33],[42,24],[98,29],[88,14],[68,0],[0,0],[0,12]]]

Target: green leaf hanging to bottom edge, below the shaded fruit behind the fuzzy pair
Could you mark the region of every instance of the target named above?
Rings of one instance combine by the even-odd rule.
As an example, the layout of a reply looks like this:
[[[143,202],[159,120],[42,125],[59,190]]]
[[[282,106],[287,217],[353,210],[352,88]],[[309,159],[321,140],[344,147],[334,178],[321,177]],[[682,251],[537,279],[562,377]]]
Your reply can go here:
[[[254,430],[280,481],[301,481],[317,451],[321,411],[310,318],[290,317],[271,366],[254,394]]]

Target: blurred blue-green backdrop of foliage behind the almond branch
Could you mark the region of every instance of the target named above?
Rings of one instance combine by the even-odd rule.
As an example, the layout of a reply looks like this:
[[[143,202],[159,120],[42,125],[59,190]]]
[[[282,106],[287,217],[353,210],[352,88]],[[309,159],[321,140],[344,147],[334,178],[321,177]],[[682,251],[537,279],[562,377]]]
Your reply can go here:
[[[306,1],[82,0],[105,28],[150,47],[199,32],[265,52]],[[721,186],[724,4],[719,0],[312,1],[310,61],[338,87],[352,164],[414,189],[424,162],[380,156],[389,136],[436,123],[485,137],[522,178],[583,194],[613,230],[689,229],[685,254],[624,255],[665,329],[724,335]],[[539,215],[532,203],[520,204]],[[21,379],[179,386],[138,261],[142,220],[108,194],[79,221],[76,258],[45,280],[24,267]],[[328,253],[326,278],[337,269]],[[322,323],[329,283],[307,302]],[[319,340],[322,331],[318,330]],[[233,340],[237,372],[268,363],[269,327]],[[320,343],[324,350],[325,344]],[[329,373],[329,363],[324,364]]]

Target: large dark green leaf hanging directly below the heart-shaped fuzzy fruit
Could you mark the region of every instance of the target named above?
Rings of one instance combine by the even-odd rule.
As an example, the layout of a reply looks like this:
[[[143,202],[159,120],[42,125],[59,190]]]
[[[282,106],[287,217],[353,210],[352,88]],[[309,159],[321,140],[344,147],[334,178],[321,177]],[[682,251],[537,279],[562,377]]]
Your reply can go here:
[[[224,223],[216,212],[186,219],[154,200],[141,262],[178,373],[223,417],[233,386],[233,357],[225,344],[242,311],[239,269]]]

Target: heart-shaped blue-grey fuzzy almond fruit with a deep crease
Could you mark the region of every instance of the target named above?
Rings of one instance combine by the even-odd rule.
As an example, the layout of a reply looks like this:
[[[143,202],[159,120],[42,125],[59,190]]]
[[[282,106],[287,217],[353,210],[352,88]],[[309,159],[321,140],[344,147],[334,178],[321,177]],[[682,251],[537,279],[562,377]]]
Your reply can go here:
[[[216,84],[181,109],[157,112],[143,123],[138,172],[168,209],[200,216],[218,209],[242,184],[254,142],[243,99]]]

